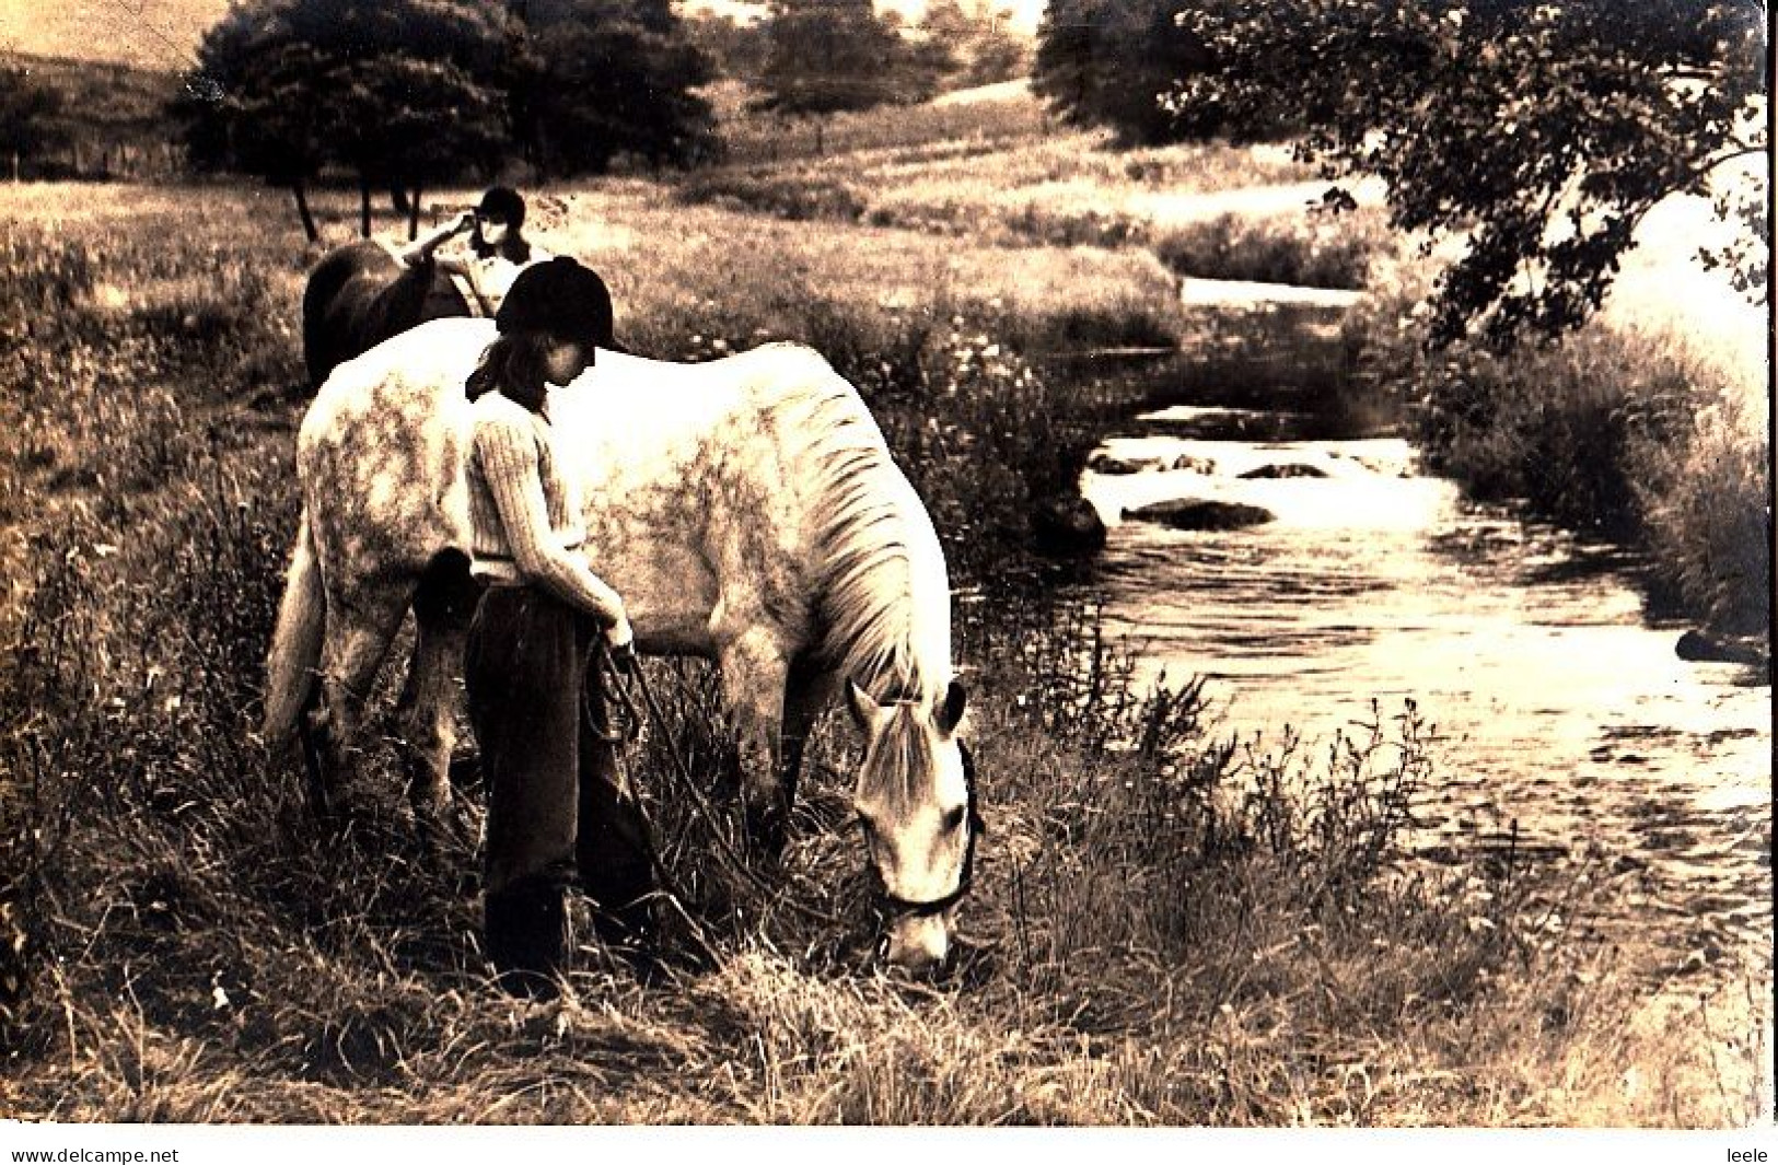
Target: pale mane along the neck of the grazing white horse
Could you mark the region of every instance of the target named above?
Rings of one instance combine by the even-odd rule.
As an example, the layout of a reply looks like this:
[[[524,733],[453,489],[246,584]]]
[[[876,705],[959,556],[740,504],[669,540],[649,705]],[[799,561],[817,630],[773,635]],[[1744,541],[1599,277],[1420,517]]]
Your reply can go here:
[[[944,553],[857,391],[809,359],[818,374],[777,381],[768,409],[802,468],[820,655],[878,701],[930,704],[951,679]]]

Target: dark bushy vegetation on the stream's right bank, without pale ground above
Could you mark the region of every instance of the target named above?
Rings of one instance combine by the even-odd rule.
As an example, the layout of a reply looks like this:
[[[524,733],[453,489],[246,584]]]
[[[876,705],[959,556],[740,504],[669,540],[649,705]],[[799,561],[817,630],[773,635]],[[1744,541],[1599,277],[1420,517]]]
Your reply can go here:
[[[1399,304],[1396,304],[1399,306]],[[1595,325],[1552,350],[1424,352],[1390,311],[1355,327],[1428,468],[1638,553],[1652,619],[1766,655],[1771,482],[1766,414],[1671,334]]]

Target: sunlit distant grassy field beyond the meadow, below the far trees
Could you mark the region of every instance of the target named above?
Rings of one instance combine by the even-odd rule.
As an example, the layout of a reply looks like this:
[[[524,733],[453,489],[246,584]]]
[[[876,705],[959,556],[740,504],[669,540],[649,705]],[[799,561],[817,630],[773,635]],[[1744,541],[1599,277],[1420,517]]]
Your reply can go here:
[[[837,117],[823,153],[786,146],[781,119],[725,126],[731,164],[692,176],[681,199],[976,244],[1136,247],[1175,276],[1330,288],[1364,286],[1383,245],[1374,206],[1314,213],[1328,183],[1284,146],[1111,151],[1106,133],[1054,123],[1021,85]]]

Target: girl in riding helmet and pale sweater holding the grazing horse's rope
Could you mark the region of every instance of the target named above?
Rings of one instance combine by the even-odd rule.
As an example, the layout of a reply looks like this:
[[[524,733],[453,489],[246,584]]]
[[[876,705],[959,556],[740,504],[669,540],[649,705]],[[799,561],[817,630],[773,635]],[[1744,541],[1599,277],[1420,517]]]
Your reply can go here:
[[[551,388],[585,372],[594,349],[621,349],[610,292],[569,258],[521,272],[494,325],[466,386],[469,569],[484,591],[464,681],[489,790],[487,955],[505,989],[548,996],[576,879],[603,939],[637,950],[651,932],[653,852],[617,768],[596,656],[631,667],[633,631],[581,553],[581,498],[549,425]],[[649,959],[640,952],[638,969]]]

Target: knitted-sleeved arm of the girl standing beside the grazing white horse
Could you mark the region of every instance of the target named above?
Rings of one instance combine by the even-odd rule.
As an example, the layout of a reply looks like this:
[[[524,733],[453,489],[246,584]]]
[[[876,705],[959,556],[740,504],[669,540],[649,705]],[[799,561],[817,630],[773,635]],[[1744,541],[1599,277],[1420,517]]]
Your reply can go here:
[[[587,569],[580,551],[564,550],[549,530],[549,507],[539,473],[537,438],[514,423],[475,427],[475,452],[482,461],[494,507],[507,532],[512,562],[519,573],[565,601],[590,612],[601,626],[624,619],[624,601]]]

